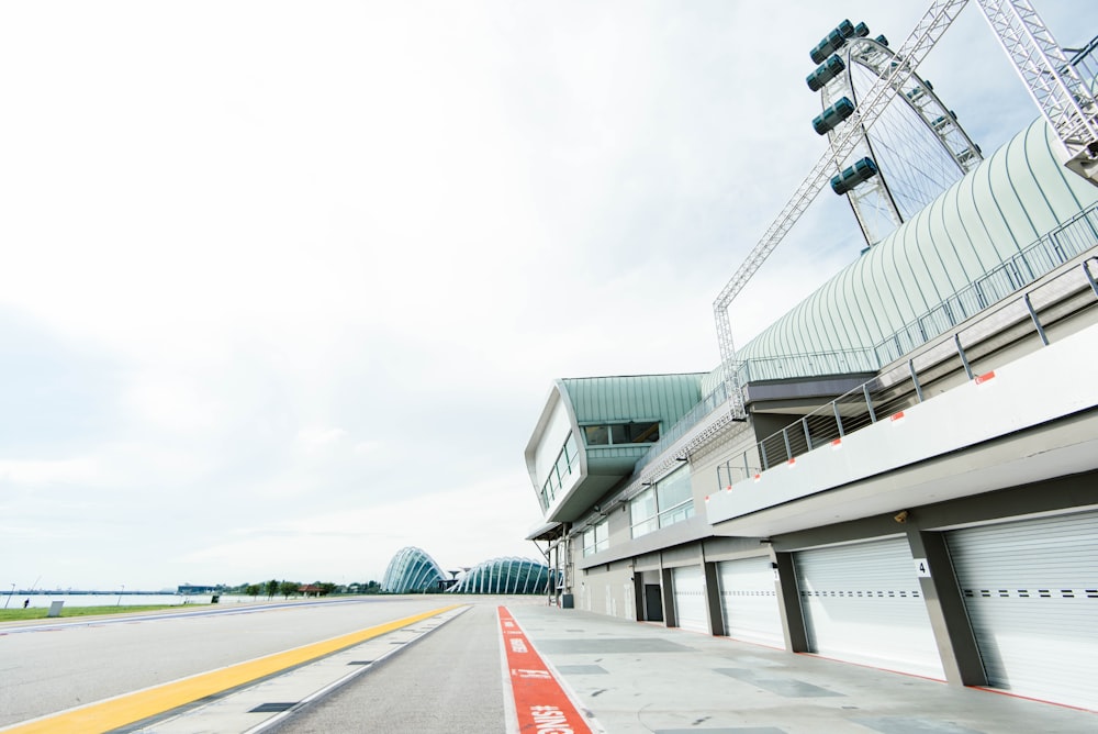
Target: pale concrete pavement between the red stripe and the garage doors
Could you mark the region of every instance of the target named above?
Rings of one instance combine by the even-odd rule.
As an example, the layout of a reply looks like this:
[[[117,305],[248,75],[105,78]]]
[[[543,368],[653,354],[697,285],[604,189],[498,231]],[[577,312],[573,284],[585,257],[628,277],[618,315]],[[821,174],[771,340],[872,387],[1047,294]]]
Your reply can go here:
[[[1098,732],[1094,712],[578,610],[513,611],[614,734]]]

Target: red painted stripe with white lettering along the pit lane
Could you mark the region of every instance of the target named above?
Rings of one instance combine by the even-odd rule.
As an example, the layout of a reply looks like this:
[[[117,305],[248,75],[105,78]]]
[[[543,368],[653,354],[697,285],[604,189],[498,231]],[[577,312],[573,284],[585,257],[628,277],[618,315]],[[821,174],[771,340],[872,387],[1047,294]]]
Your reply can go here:
[[[534,649],[515,618],[500,607],[500,632],[515,694],[518,731],[530,734],[592,734],[560,681]]]

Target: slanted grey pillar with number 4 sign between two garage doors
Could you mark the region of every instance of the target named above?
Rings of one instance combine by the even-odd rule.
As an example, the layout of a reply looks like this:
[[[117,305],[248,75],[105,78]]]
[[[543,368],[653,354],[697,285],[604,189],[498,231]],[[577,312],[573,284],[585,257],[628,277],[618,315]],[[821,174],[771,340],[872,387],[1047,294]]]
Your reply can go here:
[[[945,679],[955,686],[986,686],[987,675],[953,575],[945,534],[911,526],[907,529],[907,541],[920,574],[919,588],[927,602]],[[926,568],[920,568],[922,561]]]

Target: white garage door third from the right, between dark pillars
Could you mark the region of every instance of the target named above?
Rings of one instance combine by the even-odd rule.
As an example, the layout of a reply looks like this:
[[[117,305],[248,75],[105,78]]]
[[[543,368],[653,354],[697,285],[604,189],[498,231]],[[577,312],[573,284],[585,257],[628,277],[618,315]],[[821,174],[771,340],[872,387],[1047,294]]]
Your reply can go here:
[[[785,647],[770,556],[717,564],[725,634],[736,640]]]

